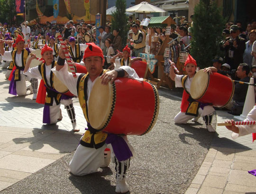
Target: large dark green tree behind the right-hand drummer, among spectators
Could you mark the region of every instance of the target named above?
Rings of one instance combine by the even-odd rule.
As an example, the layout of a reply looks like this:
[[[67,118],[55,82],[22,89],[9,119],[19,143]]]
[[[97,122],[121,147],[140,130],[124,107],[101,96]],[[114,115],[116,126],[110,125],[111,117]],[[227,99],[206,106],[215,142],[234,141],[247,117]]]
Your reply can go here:
[[[200,0],[194,8],[191,55],[200,68],[211,66],[220,52],[224,18],[215,0]]]

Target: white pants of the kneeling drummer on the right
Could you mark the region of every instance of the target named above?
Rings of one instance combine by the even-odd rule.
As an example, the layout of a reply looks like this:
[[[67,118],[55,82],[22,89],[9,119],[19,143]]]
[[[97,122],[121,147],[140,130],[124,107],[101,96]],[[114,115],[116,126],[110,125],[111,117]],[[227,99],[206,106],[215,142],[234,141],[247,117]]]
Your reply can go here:
[[[214,108],[212,106],[204,106],[203,109],[199,108],[198,109],[198,115],[199,116],[205,116],[205,115],[210,115],[214,112]],[[192,115],[185,115],[183,112],[179,112],[175,117],[174,117],[174,123],[177,124],[185,124],[195,116]]]

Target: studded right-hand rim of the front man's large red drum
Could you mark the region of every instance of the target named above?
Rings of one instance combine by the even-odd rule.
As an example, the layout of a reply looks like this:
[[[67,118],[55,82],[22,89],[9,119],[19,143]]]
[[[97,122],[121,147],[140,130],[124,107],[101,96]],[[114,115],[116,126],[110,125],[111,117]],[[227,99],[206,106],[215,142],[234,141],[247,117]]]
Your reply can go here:
[[[149,83],[149,82],[146,82],[146,83]],[[140,135],[144,135],[144,134],[146,134],[146,133],[148,133],[152,130],[152,128],[154,127],[154,125],[156,123],[158,113],[159,113],[159,94],[158,94],[158,90],[155,87],[155,85],[153,85],[152,83],[149,83],[149,84],[152,86],[153,91],[154,91],[154,95],[155,95],[155,111],[154,111],[154,114],[153,114],[152,121],[150,122],[147,130],[145,132],[143,132],[142,134],[140,134]]]

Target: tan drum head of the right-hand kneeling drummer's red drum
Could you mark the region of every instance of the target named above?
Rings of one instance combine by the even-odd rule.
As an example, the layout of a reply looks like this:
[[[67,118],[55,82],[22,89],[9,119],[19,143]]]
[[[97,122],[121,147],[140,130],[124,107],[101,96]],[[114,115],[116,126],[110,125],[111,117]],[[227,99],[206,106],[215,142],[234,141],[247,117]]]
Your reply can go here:
[[[208,88],[209,74],[203,70],[198,71],[192,79],[190,95],[193,99],[200,99]]]

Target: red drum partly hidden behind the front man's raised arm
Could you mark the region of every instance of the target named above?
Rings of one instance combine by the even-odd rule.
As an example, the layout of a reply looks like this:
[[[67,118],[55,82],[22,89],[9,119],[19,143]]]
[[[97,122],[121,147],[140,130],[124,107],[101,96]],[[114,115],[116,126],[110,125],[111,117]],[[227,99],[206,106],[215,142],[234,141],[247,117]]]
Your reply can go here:
[[[69,72],[70,69],[68,69]],[[75,63],[75,72],[76,73],[87,73],[87,70],[84,66],[80,65],[79,63]],[[54,88],[61,94],[71,96],[74,95],[68,90],[68,88],[62,83],[56,76],[54,76]]]

